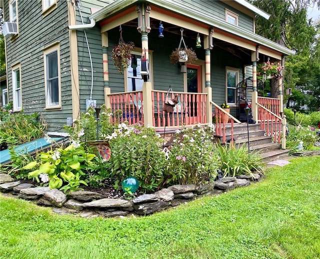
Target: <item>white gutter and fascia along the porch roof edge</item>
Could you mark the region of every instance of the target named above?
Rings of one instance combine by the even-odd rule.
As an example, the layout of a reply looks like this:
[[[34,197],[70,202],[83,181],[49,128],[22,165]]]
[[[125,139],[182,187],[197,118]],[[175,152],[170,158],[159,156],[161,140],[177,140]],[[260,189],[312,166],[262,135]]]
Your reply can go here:
[[[114,2],[108,4],[107,6],[103,7],[102,9],[98,10],[97,12],[90,14],[89,19],[95,19],[96,21],[101,20],[106,17],[106,15],[110,15],[111,13],[114,13],[116,11],[121,10],[122,8],[126,6],[130,6],[139,0],[115,0]],[[251,8],[253,10],[254,5],[248,3],[244,0],[236,0],[241,3],[247,3],[249,4],[248,8]],[[268,47],[270,49],[273,49],[275,51],[281,52],[285,55],[293,55],[295,54],[295,51],[288,49],[286,47],[283,47],[269,39],[266,39],[258,34],[255,34],[253,32],[247,31],[245,29],[242,29],[238,26],[232,25],[230,23],[227,23],[225,20],[217,18],[216,16],[213,16],[211,13],[205,12],[203,10],[199,9],[190,9],[187,3],[176,1],[176,0],[147,0],[147,2],[157,5],[159,7],[168,9],[168,10],[174,10],[174,12],[179,13],[183,16],[189,17],[191,19],[195,19],[199,22],[202,22],[204,24],[207,24],[209,26],[212,26],[213,28],[218,28],[224,31],[227,31],[231,34],[234,34],[236,36],[239,36],[241,38],[248,39],[250,41],[253,41],[259,45],[263,45],[265,47]],[[257,7],[255,7],[258,9]],[[260,10],[260,9],[258,9]],[[152,10],[151,10],[152,11]],[[261,10],[260,10],[261,12]],[[214,37],[214,32],[213,32]]]

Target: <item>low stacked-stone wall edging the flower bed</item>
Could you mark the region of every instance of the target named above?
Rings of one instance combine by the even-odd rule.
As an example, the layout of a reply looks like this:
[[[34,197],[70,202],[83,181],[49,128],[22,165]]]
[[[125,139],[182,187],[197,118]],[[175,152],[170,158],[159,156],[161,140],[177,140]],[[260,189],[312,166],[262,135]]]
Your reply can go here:
[[[192,199],[218,195],[236,187],[248,186],[259,181],[260,176],[225,177],[210,184],[201,186],[174,185],[161,189],[154,194],[144,194],[132,200],[106,198],[99,193],[88,191],[70,192],[67,196],[48,187],[34,187],[32,184],[21,184],[12,177],[0,173],[0,192],[4,195],[34,201],[40,206],[53,207],[59,214],[78,214],[81,217],[116,217],[133,215],[149,215],[170,207],[186,203]]]

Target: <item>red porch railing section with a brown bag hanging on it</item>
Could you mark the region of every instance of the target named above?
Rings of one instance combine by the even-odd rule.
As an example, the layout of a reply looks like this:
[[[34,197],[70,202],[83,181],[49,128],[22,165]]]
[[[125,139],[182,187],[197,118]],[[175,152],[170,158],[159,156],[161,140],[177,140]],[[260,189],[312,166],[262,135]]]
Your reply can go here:
[[[162,110],[166,91],[151,91],[152,124],[154,127],[206,123],[206,93],[174,92],[173,94],[178,94],[179,102],[175,105],[173,113],[167,113]],[[173,98],[173,94],[170,97]]]

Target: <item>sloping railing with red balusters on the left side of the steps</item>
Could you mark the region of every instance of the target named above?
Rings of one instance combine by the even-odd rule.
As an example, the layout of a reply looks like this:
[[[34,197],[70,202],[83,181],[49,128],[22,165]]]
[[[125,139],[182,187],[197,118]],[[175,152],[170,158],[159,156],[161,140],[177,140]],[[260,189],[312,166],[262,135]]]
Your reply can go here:
[[[214,102],[210,102],[215,107],[215,134],[218,136],[222,136],[222,143],[226,141],[226,133],[225,133],[225,124],[228,123],[226,120],[226,116],[230,119],[231,124],[231,137],[230,140],[233,140],[233,125],[234,122],[241,124],[236,118],[234,118],[230,113],[223,110],[219,105]],[[214,122],[213,122],[214,123]]]

